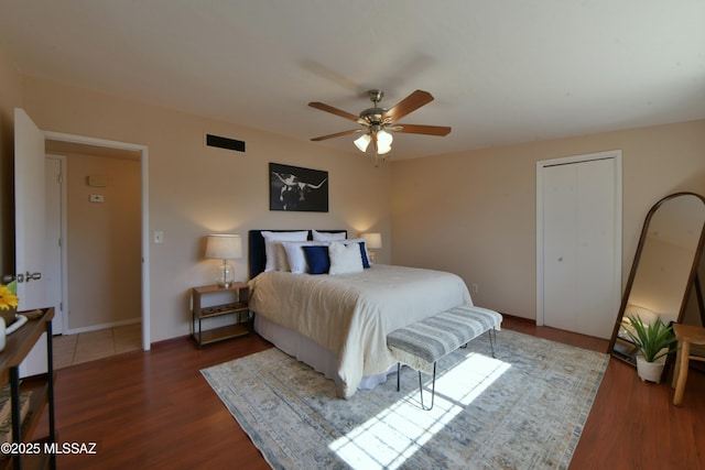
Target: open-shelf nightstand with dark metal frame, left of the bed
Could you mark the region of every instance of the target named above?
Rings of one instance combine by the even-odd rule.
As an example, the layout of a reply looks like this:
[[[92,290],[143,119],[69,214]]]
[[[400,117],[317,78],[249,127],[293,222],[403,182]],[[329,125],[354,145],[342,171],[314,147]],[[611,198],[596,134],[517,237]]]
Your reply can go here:
[[[218,296],[217,302],[229,296],[232,302],[204,306],[204,296],[223,294]],[[232,283],[229,287],[219,287],[217,285],[205,285],[194,287],[192,289],[192,326],[193,337],[198,343],[198,348],[225,339],[237,338],[250,332],[250,308],[248,300],[250,297],[250,287],[246,283]],[[203,320],[206,318],[221,317],[232,315],[235,324],[226,325],[218,328],[203,330]],[[242,319],[245,317],[245,320]]]

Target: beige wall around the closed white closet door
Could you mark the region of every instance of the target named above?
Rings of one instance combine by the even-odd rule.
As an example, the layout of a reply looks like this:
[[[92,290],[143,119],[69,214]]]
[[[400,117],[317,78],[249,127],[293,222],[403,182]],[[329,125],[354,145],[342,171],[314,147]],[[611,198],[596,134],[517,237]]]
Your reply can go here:
[[[394,162],[392,263],[458,273],[478,305],[535,318],[535,163],[617,149],[626,281],[649,208],[705,194],[705,121]]]

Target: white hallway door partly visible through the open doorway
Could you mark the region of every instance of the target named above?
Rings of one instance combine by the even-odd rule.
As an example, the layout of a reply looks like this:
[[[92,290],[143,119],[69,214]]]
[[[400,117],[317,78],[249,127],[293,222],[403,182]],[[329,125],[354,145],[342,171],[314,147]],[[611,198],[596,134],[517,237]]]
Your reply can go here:
[[[54,307],[52,330],[54,335],[64,332],[64,276],[63,276],[63,160],[46,156],[46,256],[44,280],[46,282],[46,306]]]

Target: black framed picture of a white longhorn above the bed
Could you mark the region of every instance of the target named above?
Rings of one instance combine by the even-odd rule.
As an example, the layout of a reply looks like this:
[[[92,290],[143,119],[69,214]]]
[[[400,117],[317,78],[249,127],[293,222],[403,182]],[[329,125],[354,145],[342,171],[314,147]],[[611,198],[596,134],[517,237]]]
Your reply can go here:
[[[327,212],[328,172],[270,163],[269,209]]]

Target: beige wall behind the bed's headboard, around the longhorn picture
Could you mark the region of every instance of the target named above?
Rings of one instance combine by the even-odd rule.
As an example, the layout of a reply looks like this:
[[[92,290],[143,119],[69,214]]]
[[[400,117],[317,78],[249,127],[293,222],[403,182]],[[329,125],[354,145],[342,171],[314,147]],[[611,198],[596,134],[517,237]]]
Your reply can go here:
[[[163,244],[150,244],[152,341],[189,332],[189,288],[213,281],[213,261],[203,258],[208,233],[246,239],[254,228],[345,228],[373,229],[389,240],[389,165],[376,168],[369,157],[333,152],[305,136],[289,139],[48,80],[24,77],[23,90],[24,108],[40,129],[149,147],[149,230],[164,232]],[[206,132],[243,140],[247,152],[205,147]],[[327,171],[329,212],[270,211],[270,162]],[[389,262],[389,249],[378,256]],[[246,260],[232,264],[236,277],[246,280]]]

